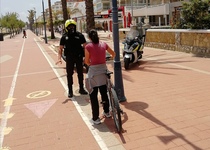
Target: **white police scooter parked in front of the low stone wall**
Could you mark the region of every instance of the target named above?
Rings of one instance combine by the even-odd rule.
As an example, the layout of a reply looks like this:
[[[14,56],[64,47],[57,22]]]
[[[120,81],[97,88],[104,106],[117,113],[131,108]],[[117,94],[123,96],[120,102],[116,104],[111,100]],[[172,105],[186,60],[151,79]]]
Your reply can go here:
[[[142,58],[144,42],[145,42],[145,30],[140,27],[140,32],[137,27],[133,26],[131,30],[126,34],[126,39],[123,42],[123,59],[125,70],[129,69],[131,63],[138,62]]]

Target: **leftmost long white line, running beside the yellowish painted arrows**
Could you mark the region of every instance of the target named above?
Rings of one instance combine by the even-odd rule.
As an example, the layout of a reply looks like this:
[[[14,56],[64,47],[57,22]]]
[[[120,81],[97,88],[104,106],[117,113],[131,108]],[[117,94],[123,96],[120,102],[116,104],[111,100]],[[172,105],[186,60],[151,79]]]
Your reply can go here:
[[[23,48],[24,48],[24,45],[25,45],[25,39],[23,40],[23,44],[22,44],[22,48],[21,48],[19,60],[18,60],[18,63],[17,63],[15,74],[13,76],[12,85],[10,87],[8,98],[12,98],[13,95],[14,95],[14,90],[15,90],[15,85],[16,85],[16,81],[17,81],[17,76],[18,76],[18,72],[19,72],[19,68],[20,68],[20,63],[21,63],[22,56],[23,56]],[[10,105],[9,106],[6,106],[4,108],[4,113],[3,113],[4,115],[3,115],[2,119],[1,119],[1,127],[0,127],[0,149],[2,148],[3,141],[4,141],[4,128],[6,128],[6,126],[7,126],[7,116],[9,115],[10,108],[11,108]]]

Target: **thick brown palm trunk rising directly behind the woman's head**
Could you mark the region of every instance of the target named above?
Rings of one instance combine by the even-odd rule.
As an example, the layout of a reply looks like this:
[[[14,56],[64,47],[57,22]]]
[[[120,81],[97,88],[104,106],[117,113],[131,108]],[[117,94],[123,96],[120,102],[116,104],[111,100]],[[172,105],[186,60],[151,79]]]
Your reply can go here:
[[[86,32],[89,32],[91,29],[95,28],[93,0],[85,0],[85,6],[86,6],[86,22],[87,22]]]

